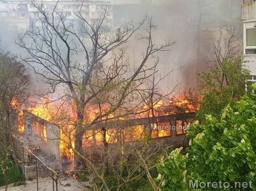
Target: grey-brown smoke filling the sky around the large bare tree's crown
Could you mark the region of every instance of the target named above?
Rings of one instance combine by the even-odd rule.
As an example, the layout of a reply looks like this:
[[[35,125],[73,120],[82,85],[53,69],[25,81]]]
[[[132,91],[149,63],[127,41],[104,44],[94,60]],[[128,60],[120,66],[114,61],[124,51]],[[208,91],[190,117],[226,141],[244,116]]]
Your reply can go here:
[[[242,0],[112,0],[114,27],[133,20],[139,22],[145,15],[152,16],[158,28],[156,42],[175,41],[170,52],[160,54],[160,74],[176,70],[161,85],[168,88],[179,82],[176,92],[196,86],[196,73],[212,65],[212,41],[218,37],[218,29],[236,27],[242,36]],[[24,54],[15,45],[17,28],[11,23],[0,23],[0,36],[5,49]],[[142,45],[131,44],[134,61],[141,57]],[[139,54],[139,55],[137,55]]]

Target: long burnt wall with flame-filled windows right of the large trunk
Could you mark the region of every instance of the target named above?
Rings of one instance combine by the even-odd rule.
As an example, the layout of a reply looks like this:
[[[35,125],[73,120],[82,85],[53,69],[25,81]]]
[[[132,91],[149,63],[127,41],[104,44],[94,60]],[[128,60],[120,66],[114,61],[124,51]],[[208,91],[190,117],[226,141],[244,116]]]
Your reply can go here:
[[[129,150],[130,142],[148,139],[151,146],[187,147],[185,135],[195,113],[179,113],[167,116],[109,121],[103,128],[97,125],[85,131],[84,156],[93,162],[105,160],[106,147],[112,158],[119,158]]]

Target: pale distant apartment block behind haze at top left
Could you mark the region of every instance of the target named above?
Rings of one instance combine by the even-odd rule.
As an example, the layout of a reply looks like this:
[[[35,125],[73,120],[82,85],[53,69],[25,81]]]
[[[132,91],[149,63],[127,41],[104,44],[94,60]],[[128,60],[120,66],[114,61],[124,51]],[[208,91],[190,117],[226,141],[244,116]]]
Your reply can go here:
[[[44,5],[44,8],[52,10],[56,5],[56,1],[38,1]],[[58,8],[67,11],[67,20],[77,20],[76,14],[79,14],[80,7],[83,3],[81,10],[84,18],[90,22],[97,22],[106,11],[106,18],[104,24],[112,26],[113,13],[112,6],[109,1],[59,1]],[[36,9],[31,7],[26,1],[20,0],[0,0],[0,20],[14,25],[18,28],[27,29],[32,26],[32,23],[36,23]]]

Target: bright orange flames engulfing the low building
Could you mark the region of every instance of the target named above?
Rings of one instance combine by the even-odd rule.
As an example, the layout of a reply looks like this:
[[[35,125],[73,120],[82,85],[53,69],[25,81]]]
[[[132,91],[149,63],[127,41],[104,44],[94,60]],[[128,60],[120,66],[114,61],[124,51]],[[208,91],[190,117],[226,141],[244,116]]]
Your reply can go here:
[[[13,100],[13,106],[16,107],[17,100]],[[164,116],[169,114],[181,113],[181,112],[196,112],[199,109],[199,100],[197,98],[193,98],[193,96],[189,96],[188,94],[182,94],[180,96],[172,96],[166,100],[158,100],[154,103],[154,116]],[[16,107],[18,108],[18,107]],[[76,114],[72,108],[74,104],[60,104],[55,105],[53,103],[49,103],[45,101],[44,104],[37,104],[34,107],[30,107],[27,109],[28,112],[43,118],[44,120],[51,121],[54,124],[58,125],[60,128],[60,150],[61,155],[67,157],[69,160],[73,160],[74,152],[73,149],[75,147],[74,141],[74,126],[76,121]],[[102,108],[98,108],[95,105],[92,105],[86,108],[84,124],[90,124],[94,120],[100,112],[106,111],[108,109],[108,105],[102,106]],[[69,111],[69,112],[67,112]],[[144,111],[144,112],[143,112]],[[151,109],[144,105],[142,108],[138,108],[135,111],[135,114],[132,117],[128,116],[127,118],[144,118],[144,117],[152,117]],[[110,114],[109,118],[114,118],[114,114]],[[106,120],[102,118],[102,120]],[[118,120],[122,120],[122,118],[118,118]],[[24,124],[23,124],[23,111],[20,110],[18,113],[18,130],[19,133],[24,132]],[[144,137],[143,134],[143,126],[131,126],[129,128],[125,128],[122,131],[122,136],[124,141],[133,141],[136,139],[140,139]],[[108,129],[106,130],[106,142],[108,143],[116,143],[118,139],[116,137],[117,134],[121,132],[118,129]],[[160,130],[158,132],[152,132],[152,138],[156,137],[165,137],[170,135],[170,130]],[[71,144],[70,144],[71,141]],[[102,145],[102,130],[86,130],[83,137],[83,145],[91,146],[91,145]]]

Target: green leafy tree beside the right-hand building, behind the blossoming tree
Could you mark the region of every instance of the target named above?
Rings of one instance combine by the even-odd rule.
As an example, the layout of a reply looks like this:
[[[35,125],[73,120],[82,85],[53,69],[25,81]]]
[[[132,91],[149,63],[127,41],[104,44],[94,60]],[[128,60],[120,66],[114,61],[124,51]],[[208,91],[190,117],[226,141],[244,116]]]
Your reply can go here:
[[[197,117],[203,119],[205,114],[219,116],[226,105],[236,103],[245,94],[249,70],[243,67],[241,57],[235,57],[227,58],[221,66],[216,65],[198,76],[203,99]]]

